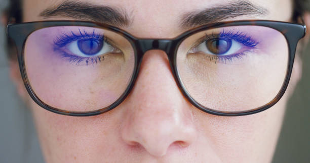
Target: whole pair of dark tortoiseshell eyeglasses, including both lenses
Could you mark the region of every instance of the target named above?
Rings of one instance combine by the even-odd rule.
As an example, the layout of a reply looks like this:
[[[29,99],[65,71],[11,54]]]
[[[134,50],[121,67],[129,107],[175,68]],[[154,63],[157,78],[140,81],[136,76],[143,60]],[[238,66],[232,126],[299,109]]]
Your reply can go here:
[[[93,116],[111,110],[133,88],[144,53],[161,49],[192,105],[214,115],[242,116],[264,111],[283,96],[306,27],[229,21],[173,39],[137,38],[82,21],[10,24],[7,30],[29,95],[48,111]]]

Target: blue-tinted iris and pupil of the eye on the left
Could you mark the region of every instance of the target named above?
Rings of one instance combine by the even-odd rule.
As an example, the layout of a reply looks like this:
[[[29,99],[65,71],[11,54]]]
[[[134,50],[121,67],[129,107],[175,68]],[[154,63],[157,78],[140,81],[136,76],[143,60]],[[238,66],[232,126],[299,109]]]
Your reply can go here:
[[[85,55],[92,56],[101,50],[103,42],[93,38],[81,39],[78,41],[78,47]]]

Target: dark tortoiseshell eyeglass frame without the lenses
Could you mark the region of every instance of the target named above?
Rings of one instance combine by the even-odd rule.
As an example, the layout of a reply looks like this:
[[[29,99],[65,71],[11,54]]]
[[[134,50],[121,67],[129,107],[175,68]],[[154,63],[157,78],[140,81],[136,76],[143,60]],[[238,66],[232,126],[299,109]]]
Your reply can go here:
[[[266,103],[265,105],[255,108],[253,110],[248,110],[245,112],[219,112],[215,110],[211,110],[210,108],[204,107],[201,104],[199,104],[195,99],[193,99],[188,92],[186,92],[186,89],[184,85],[181,82],[180,76],[178,74],[178,70],[176,68],[176,53],[178,46],[180,43],[187,37],[191,36],[192,34],[195,34],[197,32],[201,32],[206,29],[212,29],[212,28],[218,28],[218,27],[227,27],[227,26],[240,26],[240,25],[256,25],[256,26],[265,26],[269,28],[273,28],[281,32],[288,44],[289,49],[289,60],[288,60],[288,67],[287,67],[287,74],[285,81],[282,85],[281,90],[277,94],[277,96],[272,99],[270,102]],[[132,45],[134,52],[135,52],[135,65],[134,65],[134,72],[133,76],[131,78],[131,81],[125,90],[125,92],[121,95],[121,97],[112,103],[111,105],[101,108],[97,111],[92,112],[68,112],[59,110],[58,108],[54,108],[49,106],[48,104],[44,103],[40,98],[38,98],[34,91],[32,90],[28,78],[27,73],[25,70],[24,65],[24,44],[26,42],[27,37],[34,31],[42,28],[47,27],[55,27],[55,26],[86,26],[86,27],[96,27],[96,28],[103,28],[111,30],[115,33],[118,33],[122,36],[124,36]],[[112,110],[112,108],[118,106],[129,94],[130,90],[133,88],[135,80],[137,78],[139,67],[141,60],[143,58],[144,53],[147,50],[150,49],[161,49],[165,51],[168,55],[168,59],[170,62],[170,67],[173,72],[175,81],[180,88],[183,95],[191,102],[191,104],[195,105],[200,110],[213,114],[218,116],[244,116],[244,115],[250,115],[255,114],[258,112],[262,112],[266,110],[267,108],[273,106],[275,103],[277,103],[280,98],[283,96],[288,83],[289,79],[292,73],[293,69],[293,63],[294,63],[294,57],[295,57],[295,50],[297,46],[297,42],[300,38],[302,38],[305,35],[306,32],[306,26],[304,24],[294,24],[294,23],[287,23],[287,22],[279,22],[279,21],[266,21],[266,20],[245,20],[245,21],[227,21],[227,22],[219,22],[219,23],[213,23],[208,24],[204,26],[200,26],[197,28],[190,29],[181,35],[173,38],[173,39],[148,39],[148,38],[137,38],[129,34],[128,32],[113,27],[111,25],[107,24],[101,24],[96,22],[83,22],[83,21],[41,21],[41,22],[29,22],[29,23],[20,23],[20,24],[9,24],[7,26],[7,34],[8,36],[13,39],[16,43],[17,51],[18,51],[18,62],[20,67],[21,76],[23,79],[23,82],[25,84],[25,87],[31,96],[31,98],[41,107],[45,108],[48,111],[61,114],[61,115],[68,115],[68,116],[94,116],[98,114],[105,113],[107,111]]]

